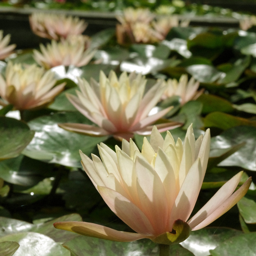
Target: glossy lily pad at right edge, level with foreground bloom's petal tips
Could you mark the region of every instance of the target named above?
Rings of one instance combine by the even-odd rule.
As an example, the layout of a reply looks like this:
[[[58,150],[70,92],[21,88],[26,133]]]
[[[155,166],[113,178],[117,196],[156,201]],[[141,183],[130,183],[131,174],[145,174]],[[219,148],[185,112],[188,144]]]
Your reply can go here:
[[[219,166],[240,166],[256,171],[256,127],[232,127],[211,139],[211,148],[231,148],[244,143],[234,154],[223,160]]]

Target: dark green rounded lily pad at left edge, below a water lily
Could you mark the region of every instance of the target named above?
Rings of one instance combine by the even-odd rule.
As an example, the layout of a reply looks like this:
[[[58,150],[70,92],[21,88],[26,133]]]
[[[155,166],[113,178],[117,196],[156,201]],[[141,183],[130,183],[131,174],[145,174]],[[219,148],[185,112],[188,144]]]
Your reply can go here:
[[[0,116],[0,160],[19,156],[34,134],[27,124],[14,118]]]

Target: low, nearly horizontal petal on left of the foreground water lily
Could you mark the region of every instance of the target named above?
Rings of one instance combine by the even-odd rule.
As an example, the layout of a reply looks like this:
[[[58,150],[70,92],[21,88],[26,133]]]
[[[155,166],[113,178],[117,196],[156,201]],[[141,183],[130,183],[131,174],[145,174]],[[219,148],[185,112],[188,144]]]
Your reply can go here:
[[[98,224],[83,221],[55,222],[55,228],[68,230],[84,236],[97,237],[116,242],[132,242],[141,238],[150,238],[138,233],[118,231]]]

